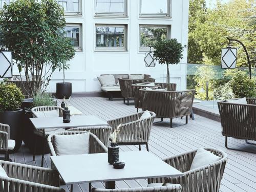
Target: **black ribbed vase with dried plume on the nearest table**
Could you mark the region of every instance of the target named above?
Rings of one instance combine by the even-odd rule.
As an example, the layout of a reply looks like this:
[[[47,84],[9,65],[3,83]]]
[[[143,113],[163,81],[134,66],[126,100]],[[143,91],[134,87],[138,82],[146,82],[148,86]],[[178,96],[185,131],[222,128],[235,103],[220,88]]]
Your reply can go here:
[[[108,147],[108,162],[109,164],[113,164],[114,162],[119,161],[119,147],[117,146],[117,135],[120,132],[119,127],[121,124],[119,124],[116,129],[114,129],[113,133],[110,134],[111,143]]]

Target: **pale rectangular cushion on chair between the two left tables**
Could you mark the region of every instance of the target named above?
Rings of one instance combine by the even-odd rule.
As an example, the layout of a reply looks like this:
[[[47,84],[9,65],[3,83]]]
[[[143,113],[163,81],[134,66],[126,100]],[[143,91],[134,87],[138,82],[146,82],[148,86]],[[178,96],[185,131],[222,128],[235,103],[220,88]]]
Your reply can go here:
[[[52,142],[56,155],[89,154],[89,138],[89,133],[54,135]]]

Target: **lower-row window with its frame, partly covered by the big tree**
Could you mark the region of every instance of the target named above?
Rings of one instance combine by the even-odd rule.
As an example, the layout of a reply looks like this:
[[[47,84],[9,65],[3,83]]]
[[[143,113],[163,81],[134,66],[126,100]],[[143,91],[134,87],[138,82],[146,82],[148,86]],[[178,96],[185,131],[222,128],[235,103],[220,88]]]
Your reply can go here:
[[[67,24],[63,28],[63,36],[71,40],[71,45],[76,50],[82,50],[82,25],[81,24]]]

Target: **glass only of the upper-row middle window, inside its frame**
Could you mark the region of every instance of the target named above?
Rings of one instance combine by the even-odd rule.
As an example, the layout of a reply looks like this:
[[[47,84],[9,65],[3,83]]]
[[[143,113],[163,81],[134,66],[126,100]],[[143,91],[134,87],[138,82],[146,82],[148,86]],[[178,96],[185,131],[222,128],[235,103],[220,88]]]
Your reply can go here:
[[[96,12],[124,13],[124,0],[96,0]]]

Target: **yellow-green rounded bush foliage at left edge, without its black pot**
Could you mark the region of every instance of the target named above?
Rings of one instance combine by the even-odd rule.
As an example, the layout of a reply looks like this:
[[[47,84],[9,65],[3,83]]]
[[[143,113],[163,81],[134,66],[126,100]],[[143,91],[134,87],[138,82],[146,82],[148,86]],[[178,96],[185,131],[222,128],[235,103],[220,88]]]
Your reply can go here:
[[[0,82],[0,111],[16,111],[23,102],[22,91],[13,83]]]

